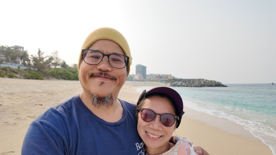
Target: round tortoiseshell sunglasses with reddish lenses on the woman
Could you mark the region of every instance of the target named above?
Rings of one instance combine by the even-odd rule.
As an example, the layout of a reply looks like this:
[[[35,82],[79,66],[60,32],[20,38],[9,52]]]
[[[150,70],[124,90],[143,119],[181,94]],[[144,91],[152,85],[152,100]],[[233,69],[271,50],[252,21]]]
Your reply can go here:
[[[159,120],[166,127],[172,126],[175,123],[175,120],[178,119],[178,116],[175,116],[173,114],[170,114],[170,113],[158,114],[158,113],[155,113],[153,110],[147,109],[147,108],[138,108],[137,111],[141,112],[141,118],[145,122],[150,122],[156,119],[156,115],[160,115]]]

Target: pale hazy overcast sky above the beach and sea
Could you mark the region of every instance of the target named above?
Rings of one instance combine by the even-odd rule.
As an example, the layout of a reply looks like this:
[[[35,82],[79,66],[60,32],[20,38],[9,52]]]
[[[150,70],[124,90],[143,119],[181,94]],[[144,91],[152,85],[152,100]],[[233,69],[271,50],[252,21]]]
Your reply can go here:
[[[147,74],[223,84],[276,83],[276,1],[28,1],[0,3],[0,44],[58,51],[78,63],[87,35],[120,31]]]

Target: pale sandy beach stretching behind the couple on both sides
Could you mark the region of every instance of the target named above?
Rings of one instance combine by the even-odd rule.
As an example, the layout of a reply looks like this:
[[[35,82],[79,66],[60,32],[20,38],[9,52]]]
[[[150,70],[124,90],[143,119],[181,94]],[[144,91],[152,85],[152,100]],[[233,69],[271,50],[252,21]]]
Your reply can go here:
[[[168,86],[156,82],[129,82],[119,98],[136,103],[141,86]],[[24,80],[0,78],[0,154],[21,154],[21,146],[30,123],[49,107],[81,93],[78,81]],[[272,155],[269,147],[244,127],[184,107],[185,115],[176,130],[211,155]]]

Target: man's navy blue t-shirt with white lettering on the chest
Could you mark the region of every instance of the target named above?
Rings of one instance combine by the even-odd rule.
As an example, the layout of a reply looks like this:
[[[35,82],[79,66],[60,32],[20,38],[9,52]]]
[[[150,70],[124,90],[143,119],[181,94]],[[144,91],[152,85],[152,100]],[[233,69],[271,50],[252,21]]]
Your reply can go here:
[[[94,115],[79,96],[49,108],[30,124],[22,154],[144,155],[137,133],[136,105],[120,102],[123,115],[114,123]]]

